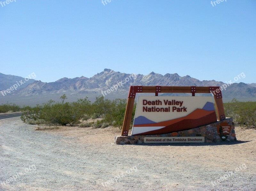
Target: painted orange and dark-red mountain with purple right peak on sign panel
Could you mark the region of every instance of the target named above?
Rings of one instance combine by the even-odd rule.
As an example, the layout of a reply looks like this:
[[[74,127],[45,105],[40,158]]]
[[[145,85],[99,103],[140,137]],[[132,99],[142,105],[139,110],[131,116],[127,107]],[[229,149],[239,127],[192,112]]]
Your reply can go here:
[[[140,123],[137,125],[133,125],[133,128],[134,128],[133,135],[156,135],[156,134],[172,133],[172,132],[177,132],[177,131],[182,131],[187,129],[193,129],[196,127],[200,127],[203,125],[216,122],[217,118],[216,118],[215,110],[213,107],[213,103],[207,102],[203,108],[205,109],[196,109],[195,111],[191,112],[187,116],[180,117],[173,120],[162,121],[158,123],[156,122],[147,123],[147,124]],[[152,128],[154,129],[154,127],[155,127],[155,130],[149,130]],[[159,129],[159,127],[163,127],[163,128]],[[145,132],[144,129],[146,130],[147,128],[149,131]],[[142,132],[141,130],[143,130],[144,132]]]

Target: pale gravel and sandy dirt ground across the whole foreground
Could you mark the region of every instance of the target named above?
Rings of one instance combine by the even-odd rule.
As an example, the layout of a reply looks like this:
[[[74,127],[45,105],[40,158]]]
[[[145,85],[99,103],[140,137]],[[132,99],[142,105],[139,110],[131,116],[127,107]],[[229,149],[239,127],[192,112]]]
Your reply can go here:
[[[0,121],[0,190],[256,190],[254,129],[220,145],[116,145],[113,127],[37,128]]]

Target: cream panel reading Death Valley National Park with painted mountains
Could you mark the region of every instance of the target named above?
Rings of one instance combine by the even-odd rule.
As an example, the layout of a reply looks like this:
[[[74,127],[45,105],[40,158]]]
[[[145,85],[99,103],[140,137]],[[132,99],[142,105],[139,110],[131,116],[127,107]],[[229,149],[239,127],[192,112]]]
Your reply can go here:
[[[216,122],[212,97],[139,96],[132,135],[156,135]]]

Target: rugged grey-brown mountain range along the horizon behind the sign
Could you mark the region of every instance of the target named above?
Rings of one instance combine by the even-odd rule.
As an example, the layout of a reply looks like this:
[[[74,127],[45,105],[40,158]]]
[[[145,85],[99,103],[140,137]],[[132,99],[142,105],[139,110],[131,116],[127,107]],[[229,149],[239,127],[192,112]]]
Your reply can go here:
[[[24,78],[0,73],[0,91],[4,91],[17,81]],[[108,99],[127,98],[130,85],[143,86],[222,86],[224,83],[215,80],[200,81],[190,76],[179,76],[174,74],[157,74],[151,72],[148,75],[142,74],[126,74],[116,72],[110,69],[94,75],[93,77],[76,77],[61,78],[55,82],[42,82],[40,80],[29,79],[26,84],[22,84],[17,90],[7,93],[3,96],[0,94],[0,104],[8,102],[19,105],[41,104],[49,99],[59,101],[61,95],[66,94],[68,101],[75,101],[80,98],[88,97],[94,100],[96,96],[103,95]],[[116,87],[116,90],[110,91]],[[107,92],[107,90],[109,91]],[[105,93],[104,93],[105,91]],[[147,94],[148,95],[148,94]],[[166,94],[166,95],[188,95],[188,94]],[[189,94],[190,95],[190,94]],[[209,94],[207,94],[209,95]],[[256,101],[256,83],[233,83],[226,90],[222,91],[223,101],[227,102],[236,98],[240,101]]]

